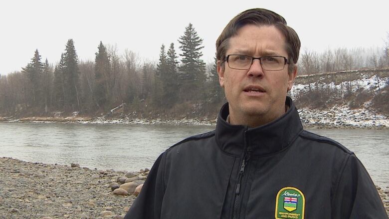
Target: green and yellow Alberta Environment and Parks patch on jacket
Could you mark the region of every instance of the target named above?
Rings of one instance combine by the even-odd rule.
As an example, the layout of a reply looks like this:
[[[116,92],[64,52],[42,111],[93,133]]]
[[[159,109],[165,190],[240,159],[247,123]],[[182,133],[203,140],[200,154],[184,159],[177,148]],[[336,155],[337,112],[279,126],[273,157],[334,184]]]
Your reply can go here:
[[[282,188],[276,197],[276,219],[304,219],[304,194],[293,187]]]

